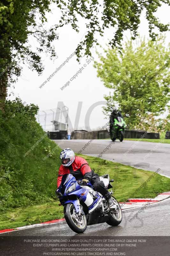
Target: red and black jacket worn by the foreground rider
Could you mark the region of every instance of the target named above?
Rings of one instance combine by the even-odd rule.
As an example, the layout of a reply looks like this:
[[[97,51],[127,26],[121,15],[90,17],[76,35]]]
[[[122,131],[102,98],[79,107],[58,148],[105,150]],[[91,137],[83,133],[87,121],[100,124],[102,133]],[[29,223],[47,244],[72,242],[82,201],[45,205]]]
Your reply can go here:
[[[57,187],[60,186],[63,175],[68,173],[71,173],[76,178],[76,180],[91,180],[92,176],[94,175],[94,171],[90,169],[87,161],[80,156],[75,156],[75,160],[70,166],[60,166],[58,172]]]

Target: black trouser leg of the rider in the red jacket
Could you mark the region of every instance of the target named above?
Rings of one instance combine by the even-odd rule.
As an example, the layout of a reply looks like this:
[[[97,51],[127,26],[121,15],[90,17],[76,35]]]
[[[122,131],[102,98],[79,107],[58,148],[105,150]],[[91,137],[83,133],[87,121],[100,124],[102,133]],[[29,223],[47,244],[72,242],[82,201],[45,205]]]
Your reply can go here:
[[[91,183],[92,183],[92,188],[98,191],[102,196],[108,199],[111,197],[107,187],[105,187],[104,182],[100,180],[98,174],[95,173],[95,175],[91,179]]]

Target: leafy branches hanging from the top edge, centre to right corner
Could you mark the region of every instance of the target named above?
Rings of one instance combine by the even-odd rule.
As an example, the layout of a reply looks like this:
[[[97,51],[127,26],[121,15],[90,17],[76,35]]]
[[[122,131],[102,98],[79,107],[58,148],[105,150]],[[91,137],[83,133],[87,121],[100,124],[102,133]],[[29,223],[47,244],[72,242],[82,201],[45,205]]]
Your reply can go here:
[[[170,5],[169,0],[104,0],[104,1],[56,1],[57,6],[62,11],[59,27],[70,23],[72,28],[79,30],[79,16],[85,18],[87,33],[85,40],[82,41],[77,48],[78,58],[81,56],[81,50],[84,49],[85,54],[90,53],[93,44],[97,43],[98,35],[103,36],[105,28],[115,28],[114,37],[110,40],[112,47],[121,48],[121,40],[123,32],[130,30],[133,35],[132,39],[137,36],[137,29],[140,24],[140,15],[143,10],[146,11],[146,19],[149,23],[149,33],[153,40],[156,39],[155,28],[160,32],[167,31],[169,24],[162,24],[159,19],[154,16],[161,4]]]

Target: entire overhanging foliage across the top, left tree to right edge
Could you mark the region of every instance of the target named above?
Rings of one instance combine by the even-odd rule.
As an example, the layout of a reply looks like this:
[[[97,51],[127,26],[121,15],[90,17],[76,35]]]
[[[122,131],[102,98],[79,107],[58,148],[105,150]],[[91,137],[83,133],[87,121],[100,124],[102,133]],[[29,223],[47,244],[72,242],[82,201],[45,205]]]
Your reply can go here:
[[[21,72],[21,60],[27,63],[38,74],[42,73],[41,52],[49,53],[50,57],[56,57],[52,42],[58,39],[56,29],[70,24],[78,32],[79,17],[85,19],[87,33],[85,40],[77,47],[78,59],[82,52],[91,55],[90,49],[98,44],[97,34],[103,36],[105,28],[115,28],[115,36],[110,41],[111,46],[121,48],[123,31],[130,30],[132,38],[137,36],[137,28],[140,24],[140,15],[146,11],[146,19],[149,22],[149,33],[153,40],[160,32],[167,31],[169,24],[160,23],[154,16],[154,12],[162,3],[170,5],[169,0],[132,1],[132,0],[104,0],[101,4],[97,1],[59,1],[59,0],[7,0],[0,2],[0,99],[6,97],[6,87],[16,81]],[[47,21],[46,14],[51,12],[50,4],[54,4],[61,10],[59,24],[48,30],[44,27]],[[38,22],[38,19],[40,22]],[[37,41],[36,49],[29,44],[29,36]]]

